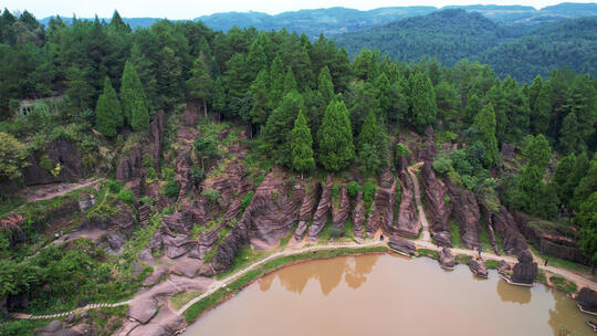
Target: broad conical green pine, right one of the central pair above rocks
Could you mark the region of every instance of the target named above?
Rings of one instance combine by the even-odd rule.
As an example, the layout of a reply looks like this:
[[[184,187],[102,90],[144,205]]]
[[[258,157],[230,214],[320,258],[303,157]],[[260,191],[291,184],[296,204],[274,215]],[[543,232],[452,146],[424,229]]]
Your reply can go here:
[[[355,157],[350,119],[344,102],[332,102],[317,130],[320,162],[326,170],[338,171]]]

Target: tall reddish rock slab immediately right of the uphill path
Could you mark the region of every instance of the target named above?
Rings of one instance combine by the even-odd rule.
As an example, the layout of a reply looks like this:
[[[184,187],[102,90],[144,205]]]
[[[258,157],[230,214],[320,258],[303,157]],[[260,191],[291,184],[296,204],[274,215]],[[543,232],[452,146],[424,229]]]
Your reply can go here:
[[[429,220],[429,229],[433,233],[433,241],[440,246],[451,246],[450,237],[450,209],[446,204],[446,186],[436,177],[432,162],[426,161],[421,170],[422,189],[425,192],[426,214]]]

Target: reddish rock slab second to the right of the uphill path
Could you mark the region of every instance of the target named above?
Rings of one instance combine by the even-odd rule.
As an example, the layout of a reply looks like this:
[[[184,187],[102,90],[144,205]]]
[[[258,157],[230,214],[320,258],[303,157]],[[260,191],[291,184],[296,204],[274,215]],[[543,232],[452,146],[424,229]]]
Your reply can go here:
[[[476,249],[479,243],[479,203],[476,197],[470,190],[450,186],[450,202],[452,203],[452,213],[460,228],[462,243],[469,249]]]

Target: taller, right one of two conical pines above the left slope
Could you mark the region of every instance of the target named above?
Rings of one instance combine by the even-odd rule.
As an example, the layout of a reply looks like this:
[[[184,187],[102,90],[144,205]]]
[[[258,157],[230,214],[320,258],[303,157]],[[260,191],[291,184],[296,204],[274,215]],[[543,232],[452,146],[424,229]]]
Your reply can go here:
[[[121,103],[126,124],[133,126],[135,123],[136,127],[133,126],[135,130],[146,129],[146,127],[149,126],[149,112],[147,108],[145,90],[143,90],[143,85],[135,66],[128,61],[125,63],[123,78],[121,80]],[[136,116],[134,115],[134,105],[138,107],[135,111]],[[136,118],[136,122],[133,120],[134,118]]]

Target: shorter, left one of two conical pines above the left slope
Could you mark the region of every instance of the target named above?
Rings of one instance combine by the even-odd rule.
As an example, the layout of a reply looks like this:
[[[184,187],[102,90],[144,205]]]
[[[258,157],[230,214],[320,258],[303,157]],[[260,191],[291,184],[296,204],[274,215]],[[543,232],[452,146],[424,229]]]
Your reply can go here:
[[[109,77],[106,77],[104,93],[97,99],[95,107],[97,129],[107,137],[115,137],[118,128],[123,127],[123,111],[118,96],[112,87]]]

